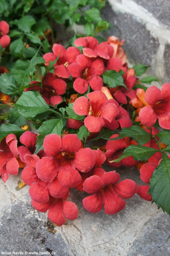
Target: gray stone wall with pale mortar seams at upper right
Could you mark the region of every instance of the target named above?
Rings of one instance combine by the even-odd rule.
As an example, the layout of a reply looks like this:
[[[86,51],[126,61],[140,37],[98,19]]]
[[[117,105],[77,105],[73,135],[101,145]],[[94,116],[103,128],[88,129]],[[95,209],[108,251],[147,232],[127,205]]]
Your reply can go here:
[[[108,0],[102,10],[111,23],[105,37],[125,39],[123,48],[130,63],[149,65],[160,86],[170,82],[170,1]]]

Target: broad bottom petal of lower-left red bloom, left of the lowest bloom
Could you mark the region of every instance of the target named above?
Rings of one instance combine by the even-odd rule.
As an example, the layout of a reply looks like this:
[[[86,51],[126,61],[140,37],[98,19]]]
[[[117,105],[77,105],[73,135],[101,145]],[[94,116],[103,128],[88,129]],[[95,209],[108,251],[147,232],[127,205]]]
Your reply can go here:
[[[34,184],[32,184],[29,188],[31,199],[37,203],[47,203],[49,200],[47,185],[48,183],[41,180],[37,180]]]

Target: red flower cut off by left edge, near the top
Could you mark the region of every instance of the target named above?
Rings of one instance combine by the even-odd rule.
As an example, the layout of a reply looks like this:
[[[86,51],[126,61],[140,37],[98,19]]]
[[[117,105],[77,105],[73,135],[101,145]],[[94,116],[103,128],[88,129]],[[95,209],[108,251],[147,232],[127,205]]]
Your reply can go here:
[[[9,33],[9,24],[1,20],[0,21],[0,45],[2,48],[6,48],[11,41],[11,38],[7,35]]]

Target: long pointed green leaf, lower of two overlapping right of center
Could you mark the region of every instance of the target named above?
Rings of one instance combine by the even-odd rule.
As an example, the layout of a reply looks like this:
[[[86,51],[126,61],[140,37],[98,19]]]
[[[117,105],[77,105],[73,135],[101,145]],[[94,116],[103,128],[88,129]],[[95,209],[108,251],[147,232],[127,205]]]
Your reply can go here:
[[[156,152],[159,150],[150,148],[150,147],[145,147],[141,145],[130,145],[129,147],[125,148],[123,151],[123,154],[119,156],[118,159],[113,160],[113,162],[120,162],[120,160],[133,156],[134,160],[147,160],[149,157],[153,156]]]

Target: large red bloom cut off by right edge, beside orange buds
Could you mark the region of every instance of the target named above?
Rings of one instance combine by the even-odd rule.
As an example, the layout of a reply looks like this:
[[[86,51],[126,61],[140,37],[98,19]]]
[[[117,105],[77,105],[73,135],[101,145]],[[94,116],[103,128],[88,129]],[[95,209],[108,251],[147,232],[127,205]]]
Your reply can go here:
[[[139,112],[143,125],[151,127],[158,119],[159,125],[170,129],[170,83],[163,84],[161,90],[151,86],[146,90],[145,101],[150,106],[144,106]]]

